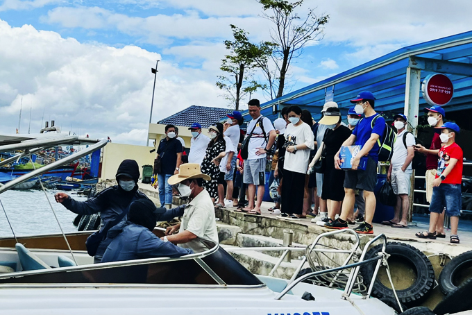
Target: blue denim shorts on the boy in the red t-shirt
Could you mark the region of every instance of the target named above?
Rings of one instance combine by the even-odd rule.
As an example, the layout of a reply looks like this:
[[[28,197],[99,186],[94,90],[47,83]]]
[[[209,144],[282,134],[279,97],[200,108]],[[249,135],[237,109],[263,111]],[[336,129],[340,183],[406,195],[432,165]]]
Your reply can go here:
[[[462,196],[460,184],[441,184],[432,187],[430,212],[442,213],[446,207],[448,216],[460,216]]]

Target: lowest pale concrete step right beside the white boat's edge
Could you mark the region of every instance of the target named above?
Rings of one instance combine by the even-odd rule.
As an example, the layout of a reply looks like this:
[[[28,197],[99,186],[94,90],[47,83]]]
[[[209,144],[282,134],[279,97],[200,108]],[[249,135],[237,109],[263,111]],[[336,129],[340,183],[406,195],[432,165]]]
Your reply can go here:
[[[222,245],[226,250],[236,246]],[[270,255],[265,255],[255,250],[248,250],[241,253],[230,253],[246,269],[256,275],[269,275],[278,259]],[[292,259],[292,262],[282,262],[276,272],[273,274],[276,278],[290,279],[296,268],[300,264],[298,259]]]

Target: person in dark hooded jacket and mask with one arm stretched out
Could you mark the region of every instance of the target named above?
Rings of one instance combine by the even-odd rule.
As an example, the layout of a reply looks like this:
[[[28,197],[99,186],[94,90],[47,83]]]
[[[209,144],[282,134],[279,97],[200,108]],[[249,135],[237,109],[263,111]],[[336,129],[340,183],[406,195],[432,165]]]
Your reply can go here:
[[[105,239],[108,230],[121,221],[126,221],[131,202],[145,198],[149,199],[141,191],[137,190],[137,180],[140,178],[140,168],[135,160],[124,160],[117,171],[118,185],[108,187],[100,191],[96,196],[87,201],[75,201],[69,195],[59,192],[56,194],[56,202],[62,203],[71,212],[76,214],[94,214],[100,212],[100,234]],[[88,249],[88,247],[87,247]],[[94,262],[101,262],[106,246],[99,246],[94,255]]]

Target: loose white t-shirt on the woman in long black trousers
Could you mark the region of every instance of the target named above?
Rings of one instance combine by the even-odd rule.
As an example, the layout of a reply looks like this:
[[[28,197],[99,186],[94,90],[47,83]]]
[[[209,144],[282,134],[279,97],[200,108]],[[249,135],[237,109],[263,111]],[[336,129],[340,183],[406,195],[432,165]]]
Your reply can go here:
[[[285,143],[293,142],[293,145],[306,144],[308,148],[297,150],[292,153],[285,151],[285,162],[283,168],[296,173],[306,173],[310,150],[314,149],[314,135],[308,124],[294,126],[288,124],[285,130]],[[292,145],[292,144],[291,144]]]

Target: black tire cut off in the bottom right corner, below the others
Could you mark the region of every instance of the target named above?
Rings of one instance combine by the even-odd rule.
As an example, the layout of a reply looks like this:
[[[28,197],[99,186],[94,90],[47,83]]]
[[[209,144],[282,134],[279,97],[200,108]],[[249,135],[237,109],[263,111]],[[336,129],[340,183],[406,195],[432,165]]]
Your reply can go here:
[[[457,256],[459,257],[459,256]],[[460,287],[450,292],[444,300],[433,309],[437,315],[455,314],[472,309],[472,279],[464,282]]]

